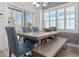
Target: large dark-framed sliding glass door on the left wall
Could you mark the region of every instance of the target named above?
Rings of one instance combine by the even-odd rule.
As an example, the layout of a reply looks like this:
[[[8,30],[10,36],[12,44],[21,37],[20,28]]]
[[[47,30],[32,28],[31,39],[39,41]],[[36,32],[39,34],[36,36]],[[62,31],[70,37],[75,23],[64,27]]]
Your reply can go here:
[[[32,26],[33,13],[13,6],[8,7],[8,22],[16,31],[21,31],[24,26]]]

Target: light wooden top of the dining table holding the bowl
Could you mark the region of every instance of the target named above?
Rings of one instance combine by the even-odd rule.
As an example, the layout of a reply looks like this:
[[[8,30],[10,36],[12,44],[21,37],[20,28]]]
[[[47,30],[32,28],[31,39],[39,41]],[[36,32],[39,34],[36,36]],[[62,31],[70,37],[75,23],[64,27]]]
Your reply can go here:
[[[22,33],[19,32],[17,33],[20,36],[24,36],[24,37],[29,37],[29,38],[35,38],[37,40],[42,39],[42,38],[46,38],[49,37],[51,35],[56,35],[58,34],[59,31],[51,31],[51,32],[30,32],[30,33]]]

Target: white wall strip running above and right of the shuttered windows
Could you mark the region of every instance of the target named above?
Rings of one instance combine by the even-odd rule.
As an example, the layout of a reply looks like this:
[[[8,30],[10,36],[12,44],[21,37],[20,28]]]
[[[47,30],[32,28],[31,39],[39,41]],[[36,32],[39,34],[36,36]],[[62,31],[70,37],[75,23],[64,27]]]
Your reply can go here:
[[[75,13],[75,15],[76,15],[76,17],[75,17],[75,30],[73,32],[79,32],[79,26],[78,26],[78,24],[79,24],[79,18],[78,18],[79,17],[78,16],[79,3],[77,3],[77,2],[74,2],[74,3],[65,3],[63,5],[59,5],[59,6],[56,6],[56,7],[53,7],[53,8],[45,9],[44,12],[51,11],[51,10],[57,10],[59,8],[65,8],[65,7],[69,7],[69,6],[72,6],[72,5],[74,5],[75,9],[76,9],[76,13]]]

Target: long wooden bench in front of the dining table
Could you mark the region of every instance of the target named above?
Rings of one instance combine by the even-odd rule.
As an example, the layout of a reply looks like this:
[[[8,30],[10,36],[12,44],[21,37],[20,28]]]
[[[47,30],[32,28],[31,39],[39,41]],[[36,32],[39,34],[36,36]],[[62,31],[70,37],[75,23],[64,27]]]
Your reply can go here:
[[[64,44],[67,42],[66,38],[57,38],[45,45],[36,47],[33,49],[33,54],[41,57],[54,57],[57,55],[59,50],[63,48]]]

